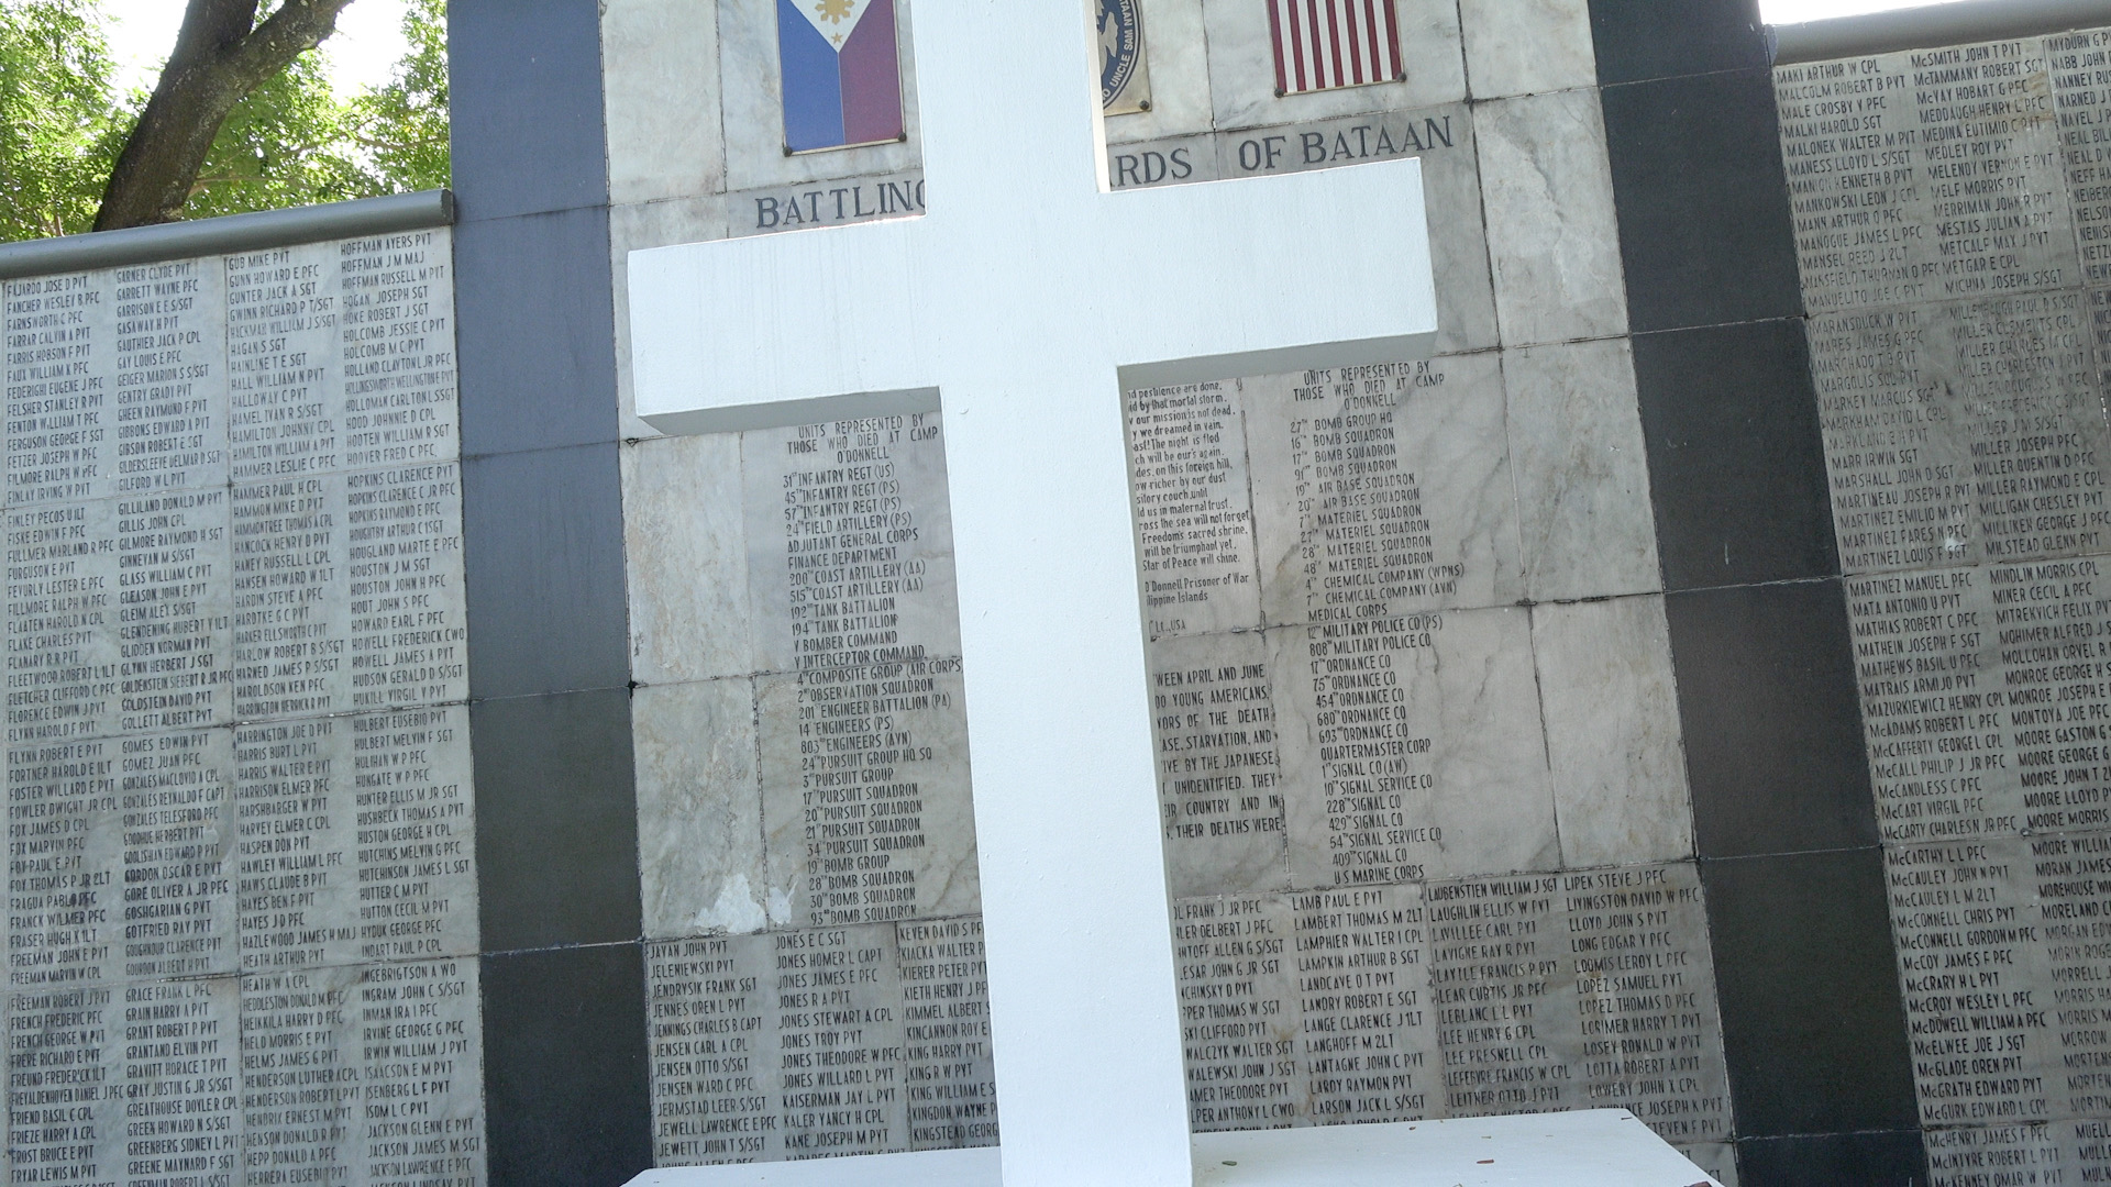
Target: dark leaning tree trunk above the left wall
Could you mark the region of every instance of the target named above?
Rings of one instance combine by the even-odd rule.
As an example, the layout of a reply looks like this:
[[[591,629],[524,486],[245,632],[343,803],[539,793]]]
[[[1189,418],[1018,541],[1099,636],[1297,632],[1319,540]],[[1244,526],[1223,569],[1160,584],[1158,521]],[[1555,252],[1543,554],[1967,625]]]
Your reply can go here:
[[[154,97],[110,171],[95,230],[182,218],[234,103],[336,32],[350,2],[285,0],[258,25],[258,0],[190,0]]]

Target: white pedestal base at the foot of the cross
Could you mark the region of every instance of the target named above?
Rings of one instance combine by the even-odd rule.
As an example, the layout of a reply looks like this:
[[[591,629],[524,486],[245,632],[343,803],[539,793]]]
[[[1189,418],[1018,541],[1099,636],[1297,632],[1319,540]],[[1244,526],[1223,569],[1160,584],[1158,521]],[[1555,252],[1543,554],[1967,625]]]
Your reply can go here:
[[[1001,1187],[994,1149],[648,1170],[629,1187]],[[1197,1187],[1720,1187],[1625,1109],[1199,1134]],[[1102,1187],[1102,1185],[1081,1185]]]

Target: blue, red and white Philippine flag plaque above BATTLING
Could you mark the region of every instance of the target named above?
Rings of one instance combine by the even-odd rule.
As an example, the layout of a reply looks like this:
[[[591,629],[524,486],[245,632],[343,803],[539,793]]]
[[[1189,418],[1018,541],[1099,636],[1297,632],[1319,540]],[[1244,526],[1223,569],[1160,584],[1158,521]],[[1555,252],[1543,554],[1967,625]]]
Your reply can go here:
[[[895,0],[777,0],[785,152],[904,139]]]

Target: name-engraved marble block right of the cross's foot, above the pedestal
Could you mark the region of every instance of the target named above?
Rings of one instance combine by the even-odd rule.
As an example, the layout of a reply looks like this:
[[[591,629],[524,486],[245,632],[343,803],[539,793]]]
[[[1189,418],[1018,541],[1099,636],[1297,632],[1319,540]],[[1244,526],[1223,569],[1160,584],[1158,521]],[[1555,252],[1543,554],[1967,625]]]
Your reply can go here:
[[[1691,864],[1174,900],[1197,1130],[1625,1107],[1729,1138]]]

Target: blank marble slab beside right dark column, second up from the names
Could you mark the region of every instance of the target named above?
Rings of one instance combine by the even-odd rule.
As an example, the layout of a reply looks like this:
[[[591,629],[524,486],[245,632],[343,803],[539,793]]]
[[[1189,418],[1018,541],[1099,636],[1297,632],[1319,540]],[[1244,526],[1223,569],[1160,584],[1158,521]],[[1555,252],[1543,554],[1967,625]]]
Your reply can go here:
[[[1615,338],[1505,351],[1503,391],[1526,594],[1659,589],[1634,348]]]

